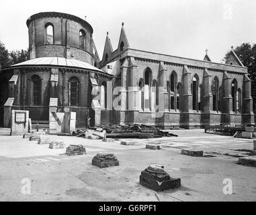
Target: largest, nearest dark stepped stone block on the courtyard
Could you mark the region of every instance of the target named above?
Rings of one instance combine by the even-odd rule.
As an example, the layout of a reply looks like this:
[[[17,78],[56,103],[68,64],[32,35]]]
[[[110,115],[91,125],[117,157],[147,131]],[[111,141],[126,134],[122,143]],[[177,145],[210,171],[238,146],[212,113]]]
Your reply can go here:
[[[180,187],[181,179],[170,177],[161,165],[150,165],[141,172],[140,185],[155,191],[164,191]]]

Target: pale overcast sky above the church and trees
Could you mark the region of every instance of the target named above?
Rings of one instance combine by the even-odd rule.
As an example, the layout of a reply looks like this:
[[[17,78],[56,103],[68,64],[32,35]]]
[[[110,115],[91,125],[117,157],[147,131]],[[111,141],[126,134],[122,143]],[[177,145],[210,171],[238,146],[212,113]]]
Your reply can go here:
[[[102,57],[106,32],[116,50],[122,22],[130,48],[220,62],[231,46],[256,43],[255,0],[0,0],[0,41],[28,48],[26,20],[57,11],[85,18]]]

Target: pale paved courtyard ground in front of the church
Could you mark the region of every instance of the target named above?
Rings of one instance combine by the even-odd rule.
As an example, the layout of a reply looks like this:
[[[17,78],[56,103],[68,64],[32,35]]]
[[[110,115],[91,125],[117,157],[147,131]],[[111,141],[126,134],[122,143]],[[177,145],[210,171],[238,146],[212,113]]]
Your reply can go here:
[[[204,130],[172,130],[178,137],[103,142],[76,136],[45,135],[69,144],[83,144],[87,155],[69,157],[64,149],[50,149],[22,136],[8,136],[0,129],[1,201],[255,201],[256,168],[238,165],[238,149],[253,149],[253,140],[205,134]],[[161,144],[150,150],[145,144]],[[204,157],[181,155],[181,149],[204,150]],[[111,152],[118,167],[99,169],[91,160],[99,152]],[[225,153],[232,156],[226,156]],[[181,187],[156,192],[139,184],[140,172],[161,164]],[[224,194],[224,179],[231,179],[232,194]],[[24,181],[31,193],[23,194]]]

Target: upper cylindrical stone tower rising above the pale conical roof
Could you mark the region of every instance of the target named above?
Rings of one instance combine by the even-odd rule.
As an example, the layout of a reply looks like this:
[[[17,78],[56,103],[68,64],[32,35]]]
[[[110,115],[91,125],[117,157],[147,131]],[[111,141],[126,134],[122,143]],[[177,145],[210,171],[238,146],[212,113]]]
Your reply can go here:
[[[30,59],[74,58],[94,64],[93,28],[75,15],[36,13],[27,20]]]

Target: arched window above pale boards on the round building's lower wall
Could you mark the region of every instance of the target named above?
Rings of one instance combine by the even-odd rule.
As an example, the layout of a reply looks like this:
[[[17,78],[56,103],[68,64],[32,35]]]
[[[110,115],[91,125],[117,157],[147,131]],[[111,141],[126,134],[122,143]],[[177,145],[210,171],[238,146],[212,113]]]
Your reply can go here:
[[[79,106],[80,86],[79,79],[72,77],[69,80],[69,105]]]

